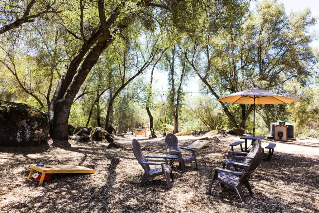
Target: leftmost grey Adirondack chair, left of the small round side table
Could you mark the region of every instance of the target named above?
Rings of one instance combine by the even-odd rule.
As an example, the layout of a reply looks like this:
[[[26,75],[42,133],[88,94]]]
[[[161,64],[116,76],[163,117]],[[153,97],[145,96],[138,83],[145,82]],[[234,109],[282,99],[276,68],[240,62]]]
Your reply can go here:
[[[159,175],[164,175],[164,177],[166,179],[166,183],[167,183],[167,189],[171,189],[172,185],[171,185],[171,182],[169,180],[169,177],[172,178],[172,182],[174,182],[174,179],[173,179],[172,168],[171,168],[171,166],[168,165],[167,157],[164,157],[164,156],[163,157],[144,156],[142,149],[141,149],[141,145],[139,144],[139,142],[136,139],[133,139],[133,141],[132,141],[132,149],[133,149],[134,155],[135,155],[138,163],[141,164],[142,168],[144,169],[144,174],[143,174],[140,186],[142,187],[144,185],[146,179],[148,179],[148,178],[153,178],[153,177],[157,177]],[[165,160],[165,165],[164,165],[164,163],[160,163],[160,162],[148,162],[146,160],[146,158],[163,158]],[[156,168],[156,169],[151,169],[150,165],[160,165],[161,167]]]

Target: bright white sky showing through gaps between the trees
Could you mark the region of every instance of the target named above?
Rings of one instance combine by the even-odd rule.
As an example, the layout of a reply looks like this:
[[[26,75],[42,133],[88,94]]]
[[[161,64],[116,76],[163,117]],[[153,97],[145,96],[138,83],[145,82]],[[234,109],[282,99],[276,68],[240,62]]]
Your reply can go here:
[[[291,11],[303,11],[305,8],[310,8],[312,15],[319,18],[319,0],[278,0],[284,4],[286,13],[289,14]],[[254,7],[256,2],[251,3],[251,8]],[[319,22],[319,21],[318,21]],[[310,29],[310,32],[319,33],[319,23]],[[313,47],[319,47],[319,40],[311,43]],[[149,81],[151,72],[146,72],[143,77]],[[153,78],[156,81],[153,84],[153,91],[167,91],[167,72],[159,72],[154,70]],[[198,76],[189,78],[185,86],[183,86],[184,92],[193,92],[192,96],[201,95],[199,92],[199,82]]]

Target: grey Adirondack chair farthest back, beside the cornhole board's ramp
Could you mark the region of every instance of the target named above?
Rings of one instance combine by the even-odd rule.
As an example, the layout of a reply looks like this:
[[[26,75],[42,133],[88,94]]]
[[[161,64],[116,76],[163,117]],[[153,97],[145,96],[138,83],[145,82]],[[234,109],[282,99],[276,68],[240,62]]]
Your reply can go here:
[[[180,148],[178,146],[177,137],[172,134],[168,133],[165,137],[165,143],[167,146],[167,151],[169,151],[172,155],[177,155],[179,159],[176,159],[175,161],[180,161],[180,164],[182,166],[183,172],[186,172],[185,164],[191,161],[195,161],[196,169],[197,169],[197,159],[196,159],[196,149],[193,148]],[[192,156],[182,157],[181,149],[192,151]]]

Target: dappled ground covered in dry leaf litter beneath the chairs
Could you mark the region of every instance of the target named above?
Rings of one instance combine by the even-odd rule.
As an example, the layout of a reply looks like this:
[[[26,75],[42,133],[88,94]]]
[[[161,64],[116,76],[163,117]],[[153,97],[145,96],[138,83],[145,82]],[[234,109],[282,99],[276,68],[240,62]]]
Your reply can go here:
[[[115,140],[127,150],[76,141],[70,141],[71,148],[54,147],[52,141],[38,148],[0,148],[0,212],[319,211],[318,142],[276,142],[271,161],[262,161],[249,179],[254,196],[242,187],[246,203],[241,203],[236,193],[220,184],[207,194],[214,168],[222,167],[229,144],[238,136],[219,136],[220,142],[198,150],[198,170],[189,163],[182,173],[176,164],[171,190],[166,189],[163,176],[139,187],[143,169],[131,150],[132,138]],[[137,138],[145,155],[168,154],[164,138]],[[198,138],[180,136],[180,147]],[[263,140],[262,146],[269,142]],[[52,180],[39,186],[34,181],[36,173],[27,179],[29,164],[36,163],[82,165],[95,173],[53,174]]]

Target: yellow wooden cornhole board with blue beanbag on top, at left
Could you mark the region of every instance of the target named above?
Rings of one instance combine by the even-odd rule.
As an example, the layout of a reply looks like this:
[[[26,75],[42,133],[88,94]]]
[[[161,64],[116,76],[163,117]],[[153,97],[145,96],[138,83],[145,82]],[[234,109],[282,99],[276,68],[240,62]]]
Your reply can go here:
[[[31,164],[31,171],[28,179],[31,178],[33,171],[42,172],[39,185],[43,183],[43,179],[46,173],[94,173],[95,170],[86,168],[84,166],[75,166],[75,165],[44,165],[36,166],[36,164]]]

